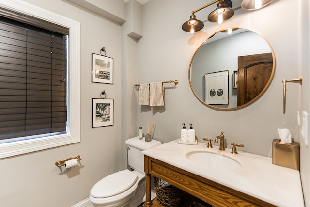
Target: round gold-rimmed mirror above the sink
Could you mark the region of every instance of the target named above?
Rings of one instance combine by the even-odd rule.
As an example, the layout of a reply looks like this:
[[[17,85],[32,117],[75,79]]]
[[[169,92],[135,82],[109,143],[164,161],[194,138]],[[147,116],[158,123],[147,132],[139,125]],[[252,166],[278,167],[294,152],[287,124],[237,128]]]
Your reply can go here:
[[[275,73],[270,43],[256,32],[232,27],[209,36],[196,49],[188,79],[194,95],[217,110],[235,110],[253,103]]]

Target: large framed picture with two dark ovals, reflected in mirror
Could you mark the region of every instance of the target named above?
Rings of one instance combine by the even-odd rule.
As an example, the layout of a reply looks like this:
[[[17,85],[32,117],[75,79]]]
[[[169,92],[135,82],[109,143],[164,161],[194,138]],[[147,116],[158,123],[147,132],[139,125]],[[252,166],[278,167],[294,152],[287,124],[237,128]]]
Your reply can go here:
[[[207,73],[205,78],[205,102],[228,104],[228,70]]]

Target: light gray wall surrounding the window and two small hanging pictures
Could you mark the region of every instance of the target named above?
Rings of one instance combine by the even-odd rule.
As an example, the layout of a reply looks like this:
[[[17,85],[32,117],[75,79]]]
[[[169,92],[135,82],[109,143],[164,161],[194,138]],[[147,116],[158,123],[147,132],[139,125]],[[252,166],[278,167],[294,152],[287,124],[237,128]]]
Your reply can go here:
[[[122,169],[121,27],[61,0],[26,1],[80,22],[81,142],[0,159],[0,206],[69,207],[87,198],[98,180]],[[92,83],[91,55],[102,47],[114,58],[113,85]],[[114,98],[114,125],[92,128],[92,98],[103,90]],[[82,167],[62,173],[55,166],[76,155]]]

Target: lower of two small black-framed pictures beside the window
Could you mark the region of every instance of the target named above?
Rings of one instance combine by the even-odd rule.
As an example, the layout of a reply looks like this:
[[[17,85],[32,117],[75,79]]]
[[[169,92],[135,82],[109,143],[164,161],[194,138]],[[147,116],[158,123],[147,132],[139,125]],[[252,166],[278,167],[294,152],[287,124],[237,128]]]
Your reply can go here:
[[[113,125],[114,99],[93,98],[92,127]]]

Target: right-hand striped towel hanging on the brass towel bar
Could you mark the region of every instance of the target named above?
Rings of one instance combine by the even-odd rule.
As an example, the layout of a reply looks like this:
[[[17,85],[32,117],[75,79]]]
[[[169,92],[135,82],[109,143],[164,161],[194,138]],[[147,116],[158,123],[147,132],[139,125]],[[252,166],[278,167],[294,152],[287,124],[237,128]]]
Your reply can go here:
[[[162,82],[150,83],[150,106],[164,106],[164,91]]]

